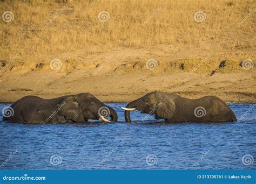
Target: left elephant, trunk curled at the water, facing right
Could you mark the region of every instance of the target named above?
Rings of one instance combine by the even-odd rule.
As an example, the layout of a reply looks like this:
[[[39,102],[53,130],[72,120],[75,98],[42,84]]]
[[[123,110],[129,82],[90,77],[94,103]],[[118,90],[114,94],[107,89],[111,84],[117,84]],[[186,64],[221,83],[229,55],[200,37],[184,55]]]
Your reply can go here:
[[[116,111],[89,93],[49,100],[25,96],[4,109],[3,116],[3,121],[21,123],[72,123],[99,118],[104,122],[117,121]]]

